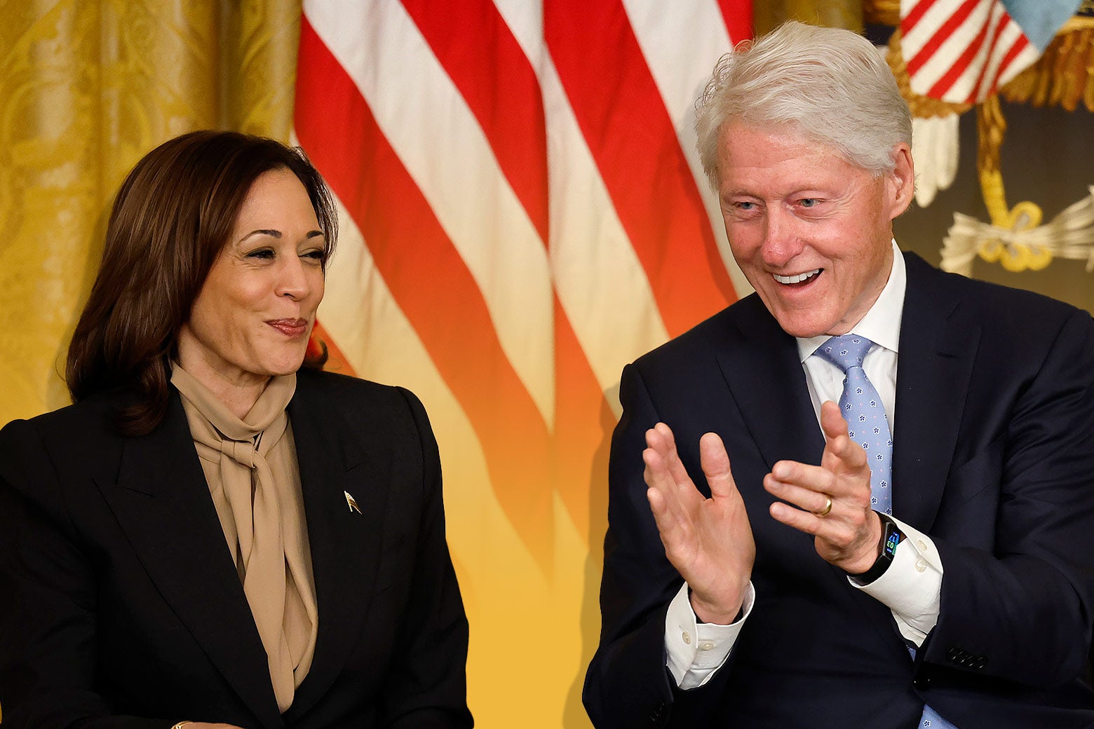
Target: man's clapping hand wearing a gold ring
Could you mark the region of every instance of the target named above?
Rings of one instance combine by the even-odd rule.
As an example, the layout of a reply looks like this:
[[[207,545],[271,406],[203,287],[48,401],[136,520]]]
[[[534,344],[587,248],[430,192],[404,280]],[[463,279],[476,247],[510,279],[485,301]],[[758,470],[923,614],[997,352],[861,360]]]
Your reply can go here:
[[[848,436],[835,402],[821,407],[821,466],[779,461],[764,477],[768,493],[782,499],[771,504],[771,516],[813,534],[817,554],[826,562],[862,574],[877,558],[882,536],[881,519],[870,506],[866,451]]]

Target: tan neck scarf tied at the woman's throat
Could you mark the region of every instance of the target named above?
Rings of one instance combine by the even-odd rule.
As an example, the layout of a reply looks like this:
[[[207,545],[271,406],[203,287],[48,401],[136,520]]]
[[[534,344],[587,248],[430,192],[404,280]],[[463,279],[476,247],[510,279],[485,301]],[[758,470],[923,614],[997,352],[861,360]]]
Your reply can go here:
[[[286,407],[296,376],[270,379],[241,420],[177,363],[190,435],[269,663],[278,708],[311,667],[317,610]]]

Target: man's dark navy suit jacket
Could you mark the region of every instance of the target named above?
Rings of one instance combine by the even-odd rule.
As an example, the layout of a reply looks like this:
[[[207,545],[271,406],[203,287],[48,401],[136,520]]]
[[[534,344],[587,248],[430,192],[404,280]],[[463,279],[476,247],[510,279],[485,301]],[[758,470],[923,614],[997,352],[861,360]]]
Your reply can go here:
[[[824,442],[795,341],[754,294],[624,372],[583,695],[600,729],[911,729],[924,703],[959,729],[1094,726],[1094,321],[906,259],[893,510],[945,571],[917,658],[888,608],[768,514],[764,475],[818,463]],[[642,480],[657,421],[708,495],[699,437],[722,437],[756,539],[753,612],[726,665],[687,692],[664,656],[682,578]]]

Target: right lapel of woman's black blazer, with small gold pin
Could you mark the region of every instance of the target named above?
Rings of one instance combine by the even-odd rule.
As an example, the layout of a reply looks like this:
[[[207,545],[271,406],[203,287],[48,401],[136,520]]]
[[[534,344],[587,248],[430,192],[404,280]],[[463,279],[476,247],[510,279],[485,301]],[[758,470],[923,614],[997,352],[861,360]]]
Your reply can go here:
[[[291,720],[318,699],[346,665],[369,612],[380,564],[391,463],[353,456],[348,424],[331,422],[309,380],[298,377],[289,419],[296,444],[319,612],[315,654],[287,713]],[[363,442],[366,435],[353,434]],[[350,507],[346,494],[357,504]]]

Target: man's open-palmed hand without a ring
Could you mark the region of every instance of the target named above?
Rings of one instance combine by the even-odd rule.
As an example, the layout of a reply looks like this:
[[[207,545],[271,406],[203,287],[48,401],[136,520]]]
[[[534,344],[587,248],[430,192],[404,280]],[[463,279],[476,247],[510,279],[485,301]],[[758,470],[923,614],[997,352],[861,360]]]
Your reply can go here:
[[[665,555],[691,589],[691,609],[703,623],[736,620],[756,560],[756,543],[722,439],[707,433],[699,460],[710,498],[695,487],[676,452],[673,432],[657,423],[645,432],[645,492]]]

